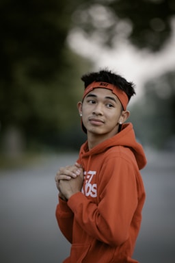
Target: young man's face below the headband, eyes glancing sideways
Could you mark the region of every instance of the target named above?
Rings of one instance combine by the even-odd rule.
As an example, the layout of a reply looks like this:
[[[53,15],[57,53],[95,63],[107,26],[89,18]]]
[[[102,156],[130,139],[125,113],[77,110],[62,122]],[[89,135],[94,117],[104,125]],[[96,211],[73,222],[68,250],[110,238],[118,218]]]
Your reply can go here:
[[[107,138],[117,134],[122,105],[116,95],[106,88],[94,88],[82,104],[82,121],[90,134],[105,135]]]

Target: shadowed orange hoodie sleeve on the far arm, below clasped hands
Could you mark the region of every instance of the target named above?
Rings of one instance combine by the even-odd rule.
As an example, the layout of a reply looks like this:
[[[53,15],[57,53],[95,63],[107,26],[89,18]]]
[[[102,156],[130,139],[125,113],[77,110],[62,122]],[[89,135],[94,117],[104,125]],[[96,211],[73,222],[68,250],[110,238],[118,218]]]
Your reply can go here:
[[[59,197],[59,203],[56,208],[56,218],[59,229],[64,234],[65,238],[72,243],[72,224],[74,214],[67,205],[67,202]]]

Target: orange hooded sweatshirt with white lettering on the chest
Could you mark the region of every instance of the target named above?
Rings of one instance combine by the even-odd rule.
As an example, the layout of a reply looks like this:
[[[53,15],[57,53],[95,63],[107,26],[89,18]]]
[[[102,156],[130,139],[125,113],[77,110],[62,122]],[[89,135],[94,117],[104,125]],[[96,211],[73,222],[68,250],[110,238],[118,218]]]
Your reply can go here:
[[[142,221],[145,190],[139,169],[146,165],[133,125],[90,151],[85,142],[79,163],[84,170],[82,192],[59,199],[59,228],[71,242],[64,263],[137,262],[132,260]]]

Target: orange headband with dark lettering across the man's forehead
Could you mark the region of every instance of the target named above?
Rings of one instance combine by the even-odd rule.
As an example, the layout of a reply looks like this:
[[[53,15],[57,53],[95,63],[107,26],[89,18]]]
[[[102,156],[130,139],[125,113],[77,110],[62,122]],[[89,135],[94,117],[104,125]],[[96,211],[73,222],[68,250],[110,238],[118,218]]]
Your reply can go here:
[[[85,88],[83,99],[89,93],[90,91],[94,90],[94,88],[107,88],[108,90],[111,90],[113,94],[115,94],[120,102],[122,103],[123,109],[126,110],[126,106],[129,103],[129,98],[126,95],[126,93],[123,90],[120,90],[117,86],[114,86],[113,84],[109,84],[107,82],[92,82],[90,85]]]

